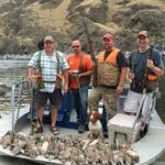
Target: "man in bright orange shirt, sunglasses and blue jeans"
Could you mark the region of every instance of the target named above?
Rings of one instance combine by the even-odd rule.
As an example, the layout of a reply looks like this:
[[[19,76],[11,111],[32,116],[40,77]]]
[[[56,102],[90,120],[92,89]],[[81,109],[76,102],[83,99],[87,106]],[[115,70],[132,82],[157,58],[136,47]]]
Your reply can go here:
[[[73,94],[74,108],[79,124],[78,133],[82,133],[87,121],[88,85],[90,84],[94,64],[90,56],[81,52],[80,41],[73,41],[72,46],[74,54],[67,56],[70,67],[69,88]]]

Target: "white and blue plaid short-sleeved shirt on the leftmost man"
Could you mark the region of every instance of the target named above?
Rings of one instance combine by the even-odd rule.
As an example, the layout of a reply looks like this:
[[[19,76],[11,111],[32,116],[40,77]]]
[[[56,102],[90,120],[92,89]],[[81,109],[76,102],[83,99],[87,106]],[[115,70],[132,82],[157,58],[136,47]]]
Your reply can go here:
[[[40,55],[41,63],[38,62]],[[57,74],[59,74],[57,73],[57,55],[59,59],[58,69],[59,73],[63,73],[69,68],[69,65],[65,58],[65,55],[59,51],[55,51],[52,55],[47,55],[45,51],[36,52],[28,64],[28,66],[33,67],[36,70],[38,70],[38,64],[41,64],[42,79],[44,81],[44,89],[40,89],[41,91],[53,92],[55,89],[56,77]]]

